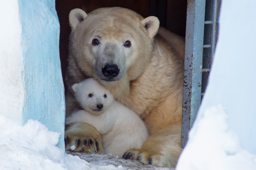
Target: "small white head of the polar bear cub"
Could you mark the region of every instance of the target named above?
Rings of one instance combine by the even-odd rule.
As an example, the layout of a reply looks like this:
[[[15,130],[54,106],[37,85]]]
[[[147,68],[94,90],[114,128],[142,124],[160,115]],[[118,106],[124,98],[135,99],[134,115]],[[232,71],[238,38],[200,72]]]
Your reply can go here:
[[[76,101],[87,112],[99,114],[113,102],[113,95],[93,78],[73,84]]]

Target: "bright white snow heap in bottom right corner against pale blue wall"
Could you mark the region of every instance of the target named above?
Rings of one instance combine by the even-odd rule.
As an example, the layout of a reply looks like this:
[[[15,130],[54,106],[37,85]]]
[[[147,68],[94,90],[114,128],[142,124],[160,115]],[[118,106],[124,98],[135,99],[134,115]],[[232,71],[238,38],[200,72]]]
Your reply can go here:
[[[189,134],[176,170],[256,170],[256,156],[240,147],[221,105],[204,112]]]

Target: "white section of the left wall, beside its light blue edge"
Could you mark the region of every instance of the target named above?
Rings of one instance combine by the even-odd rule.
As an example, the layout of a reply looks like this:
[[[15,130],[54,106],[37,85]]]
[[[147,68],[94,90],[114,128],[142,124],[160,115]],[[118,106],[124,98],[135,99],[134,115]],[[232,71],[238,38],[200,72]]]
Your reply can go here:
[[[25,90],[18,8],[17,0],[0,0],[0,108],[1,114],[22,124]]]

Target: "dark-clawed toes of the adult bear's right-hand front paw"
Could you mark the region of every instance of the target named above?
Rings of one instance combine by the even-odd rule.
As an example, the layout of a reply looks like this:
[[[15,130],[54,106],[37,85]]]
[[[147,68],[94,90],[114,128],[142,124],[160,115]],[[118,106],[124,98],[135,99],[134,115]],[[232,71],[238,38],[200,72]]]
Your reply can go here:
[[[161,157],[163,157],[162,154],[150,153],[137,149],[127,150],[122,156],[124,159],[135,159],[142,162],[143,164],[152,164],[154,166],[166,167],[166,164],[161,162]]]

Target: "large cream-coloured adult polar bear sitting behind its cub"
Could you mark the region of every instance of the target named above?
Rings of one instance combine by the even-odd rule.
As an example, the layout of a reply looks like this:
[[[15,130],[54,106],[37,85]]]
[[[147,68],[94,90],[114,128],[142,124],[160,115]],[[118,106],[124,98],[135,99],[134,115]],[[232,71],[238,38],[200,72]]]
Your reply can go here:
[[[144,19],[119,7],[96,9],[88,15],[73,9],[69,20],[66,116],[77,107],[71,86],[94,78],[117,101],[140,115],[148,127],[150,137],[141,149],[128,150],[123,158],[175,167],[182,150],[184,41],[159,28],[157,17]],[[78,138],[96,139],[101,145],[99,133],[87,124],[71,124],[65,136],[66,149],[75,144],[76,151],[90,150],[95,145],[81,146]]]

